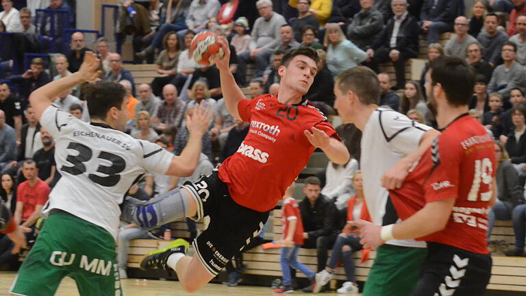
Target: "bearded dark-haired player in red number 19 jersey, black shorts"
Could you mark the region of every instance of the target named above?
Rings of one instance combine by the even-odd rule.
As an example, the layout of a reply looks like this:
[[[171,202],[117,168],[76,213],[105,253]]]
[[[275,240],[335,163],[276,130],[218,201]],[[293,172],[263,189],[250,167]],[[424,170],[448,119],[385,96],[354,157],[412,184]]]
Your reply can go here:
[[[460,58],[431,64],[425,89],[442,133],[405,178],[390,190],[403,222],[375,226],[364,221],[364,247],[392,239],[418,238],[428,254],[412,295],[484,295],[492,260],[486,243],[488,211],[494,204],[494,143],[468,115],[475,70]]]

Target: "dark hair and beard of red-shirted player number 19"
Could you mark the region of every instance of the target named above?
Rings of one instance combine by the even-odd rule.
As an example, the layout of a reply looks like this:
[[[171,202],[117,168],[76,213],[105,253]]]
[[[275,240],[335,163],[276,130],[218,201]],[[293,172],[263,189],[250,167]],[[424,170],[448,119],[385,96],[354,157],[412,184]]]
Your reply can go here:
[[[466,61],[456,56],[440,56],[432,61],[431,85],[440,84],[447,101],[453,106],[464,106],[471,101],[476,72]]]

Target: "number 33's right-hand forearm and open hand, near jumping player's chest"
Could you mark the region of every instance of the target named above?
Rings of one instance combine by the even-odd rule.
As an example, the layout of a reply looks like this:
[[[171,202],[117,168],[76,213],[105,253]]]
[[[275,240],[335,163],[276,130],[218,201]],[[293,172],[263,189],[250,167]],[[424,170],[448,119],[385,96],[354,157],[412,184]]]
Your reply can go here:
[[[166,175],[177,177],[188,177],[192,175],[199,162],[203,143],[203,135],[208,130],[210,119],[214,112],[210,112],[210,105],[205,108],[205,101],[201,101],[199,107],[196,106],[192,116],[186,116],[186,127],[190,132],[188,142],[181,155],[173,156],[172,162]]]

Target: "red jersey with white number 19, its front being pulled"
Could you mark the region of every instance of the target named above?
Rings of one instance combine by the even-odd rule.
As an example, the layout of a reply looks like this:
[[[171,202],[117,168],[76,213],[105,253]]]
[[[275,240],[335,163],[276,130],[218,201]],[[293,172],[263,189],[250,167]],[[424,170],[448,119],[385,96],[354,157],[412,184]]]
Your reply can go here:
[[[496,171],[492,137],[464,114],[435,139],[402,188],[390,190],[390,197],[403,220],[428,202],[455,198],[444,230],[418,240],[488,254],[488,211]]]

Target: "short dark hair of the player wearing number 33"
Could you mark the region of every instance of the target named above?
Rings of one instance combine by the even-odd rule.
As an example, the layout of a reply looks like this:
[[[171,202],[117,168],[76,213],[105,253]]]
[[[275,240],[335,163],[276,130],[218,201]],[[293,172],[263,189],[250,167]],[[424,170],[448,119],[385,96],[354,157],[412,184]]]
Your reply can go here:
[[[126,90],[121,84],[103,81],[86,84],[83,93],[84,99],[88,102],[90,117],[105,119],[112,107],[121,110]]]

